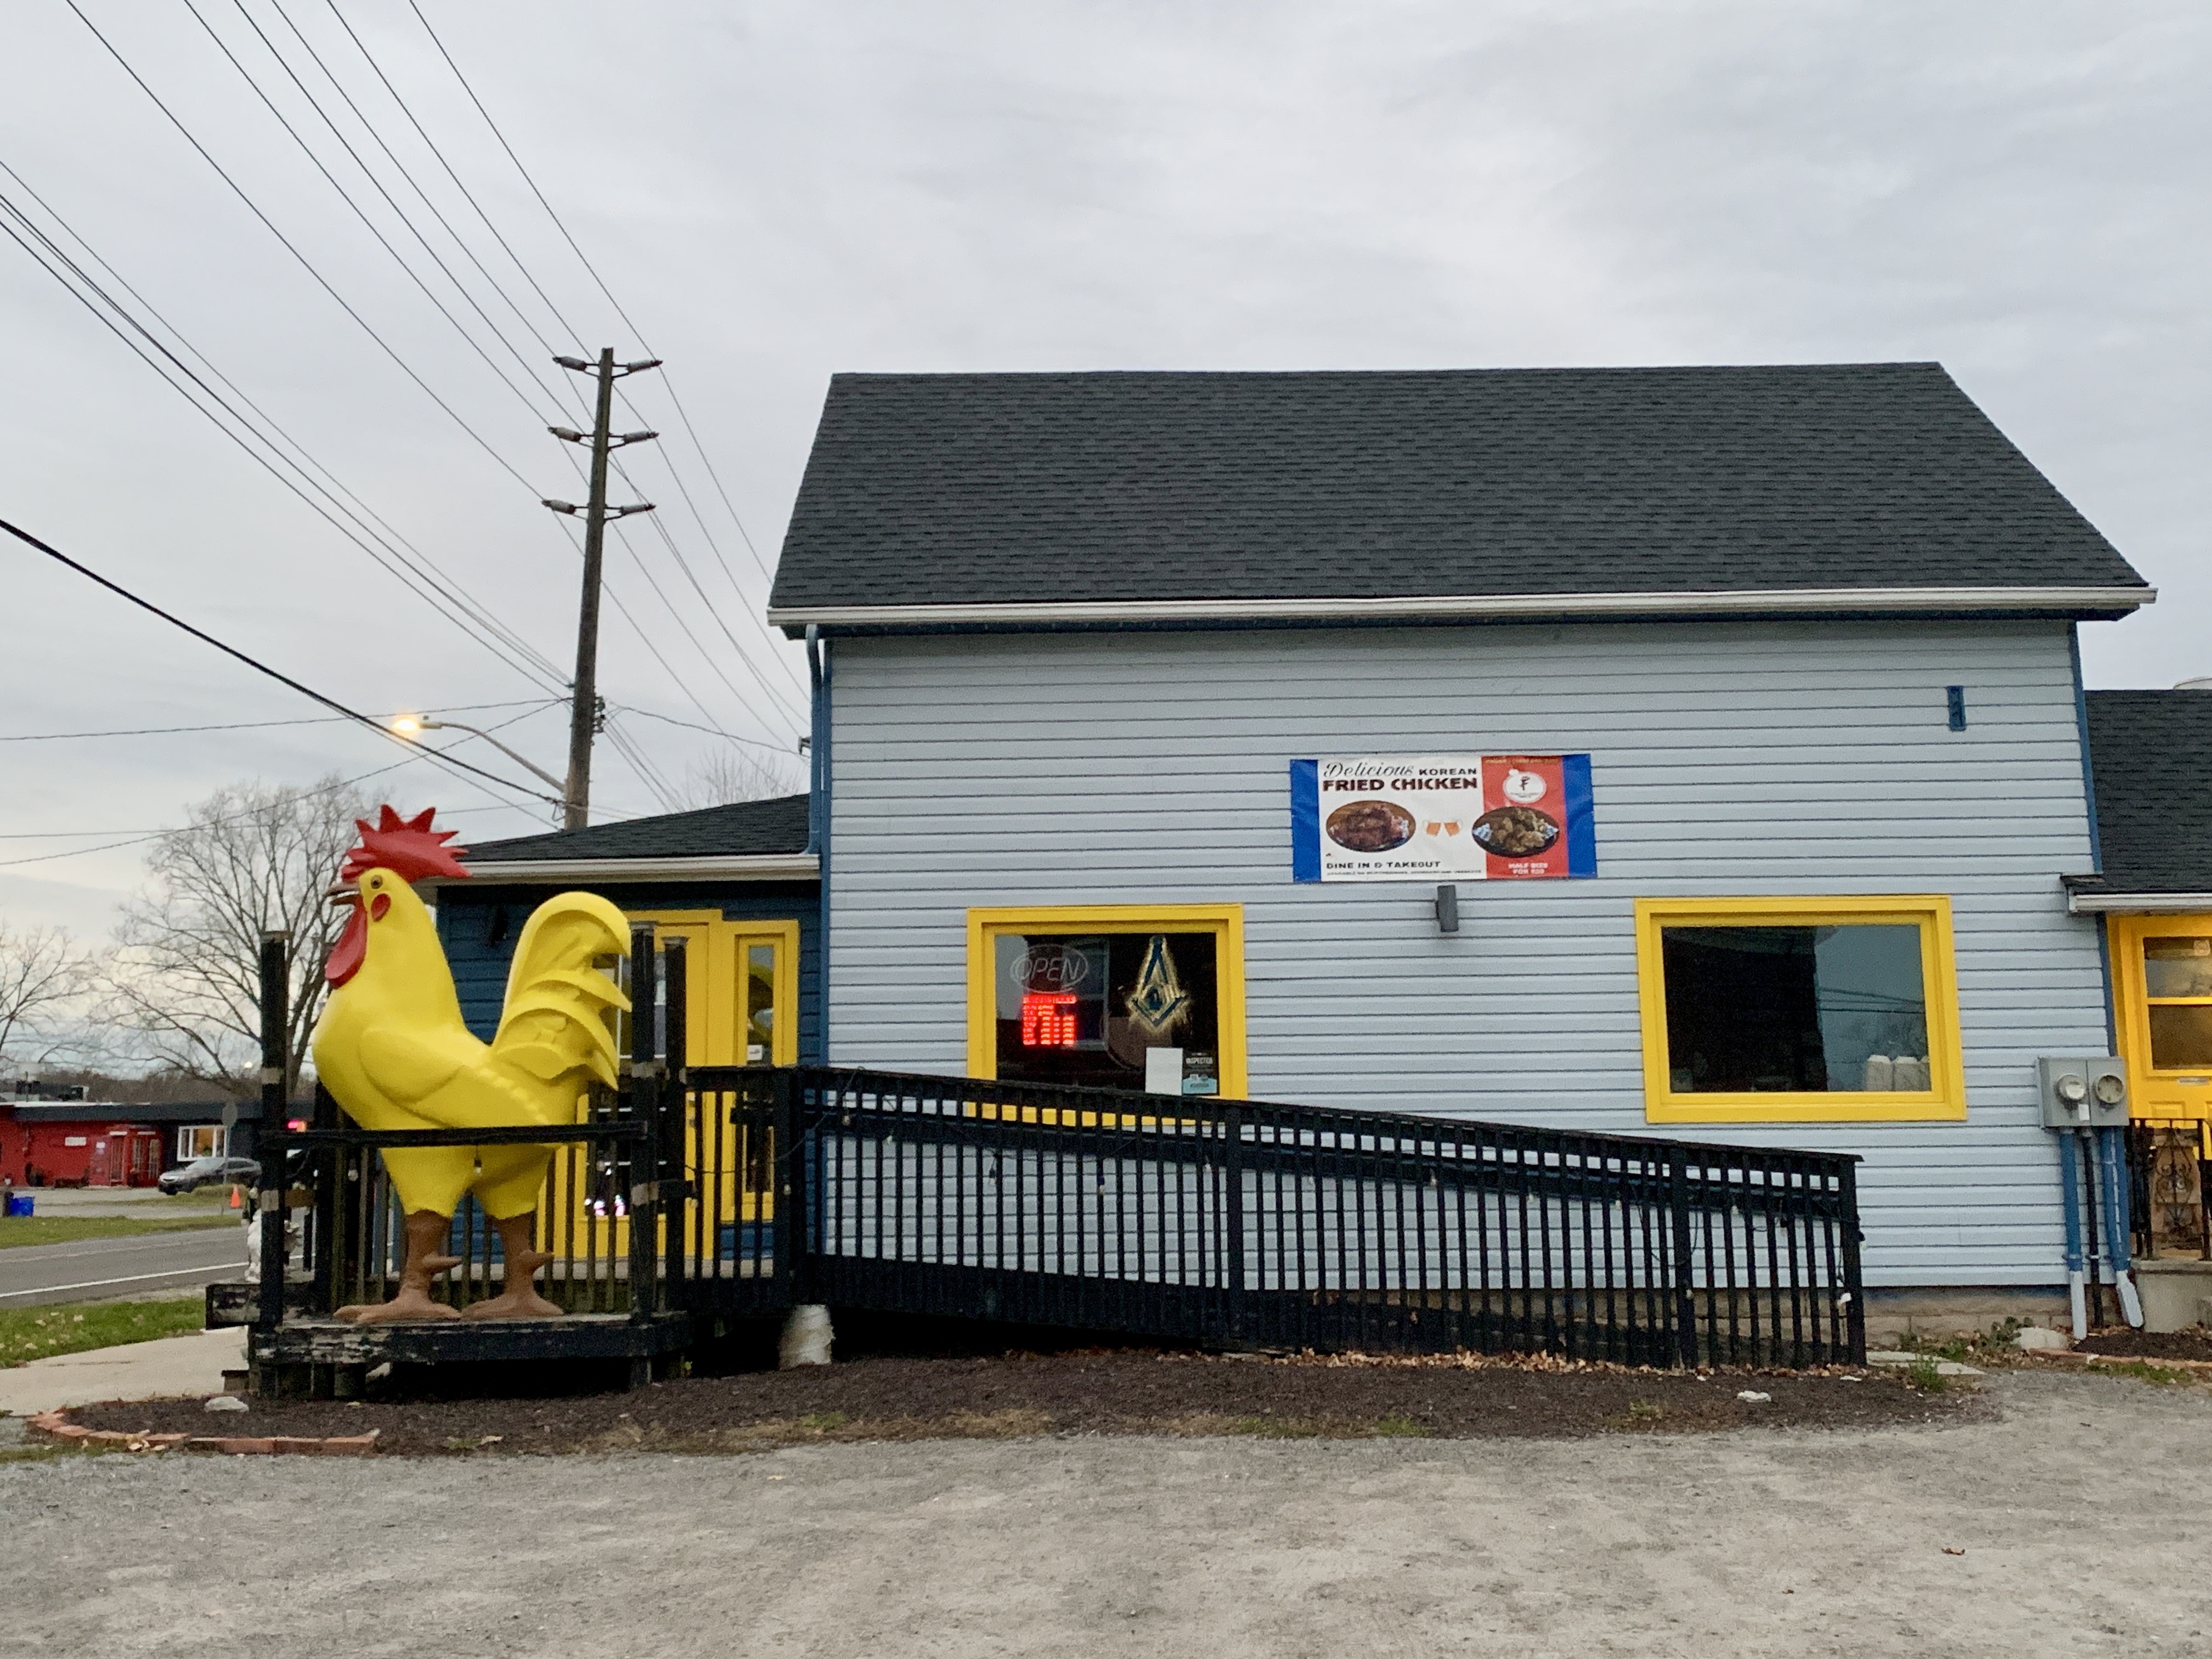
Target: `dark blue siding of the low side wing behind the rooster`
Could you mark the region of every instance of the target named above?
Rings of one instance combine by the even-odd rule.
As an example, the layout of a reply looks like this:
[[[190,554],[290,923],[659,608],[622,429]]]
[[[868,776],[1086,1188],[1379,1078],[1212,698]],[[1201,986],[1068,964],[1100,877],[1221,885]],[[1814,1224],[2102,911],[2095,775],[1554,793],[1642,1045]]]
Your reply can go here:
[[[608,885],[560,883],[551,887],[438,889],[438,938],[460,991],[460,1018],[484,1042],[500,1024],[507,1000],[507,969],[515,956],[522,922],[553,894],[593,891],[622,909],[719,909],[732,922],[799,922],[799,1053],[821,1060],[821,911],[814,883],[697,883],[697,885]]]

